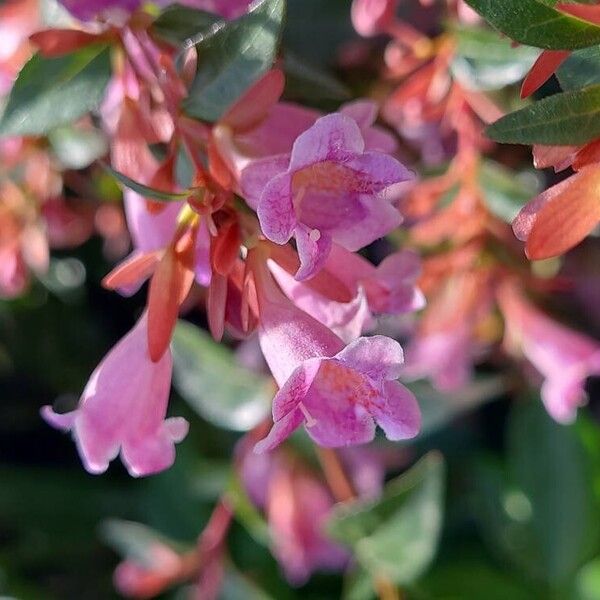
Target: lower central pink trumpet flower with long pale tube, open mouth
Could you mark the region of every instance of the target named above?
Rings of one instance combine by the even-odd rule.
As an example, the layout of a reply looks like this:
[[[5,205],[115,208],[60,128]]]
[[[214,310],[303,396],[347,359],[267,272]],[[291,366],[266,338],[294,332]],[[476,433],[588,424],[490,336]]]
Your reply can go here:
[[[265,266],[255,265],[254,276],[261,349],[280,387],[273,428],[257,452],[275,448],[303,423],[310,437],[327,447],[370,442],[375,423],[391,440],[417,435],[417,402],[395,381],[403,361],[397,342],[373,336],[345,347],[276,288]]]

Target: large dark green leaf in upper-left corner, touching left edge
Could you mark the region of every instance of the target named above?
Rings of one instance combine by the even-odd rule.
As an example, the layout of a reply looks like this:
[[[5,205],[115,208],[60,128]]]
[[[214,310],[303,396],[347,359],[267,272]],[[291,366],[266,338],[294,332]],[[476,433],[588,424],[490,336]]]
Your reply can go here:
[[[110,49],[88,46],[57,58],[34,55],[0,118],[0,136],[44,135],[96,109],[111,75]]]

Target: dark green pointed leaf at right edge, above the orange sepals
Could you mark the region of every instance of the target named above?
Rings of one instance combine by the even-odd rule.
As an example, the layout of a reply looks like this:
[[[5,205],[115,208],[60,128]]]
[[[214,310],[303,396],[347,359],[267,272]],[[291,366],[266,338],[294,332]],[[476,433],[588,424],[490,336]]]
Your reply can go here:
[[[486,130],[505,144],[585,144],[600,136],[600,85],[544,98]]]

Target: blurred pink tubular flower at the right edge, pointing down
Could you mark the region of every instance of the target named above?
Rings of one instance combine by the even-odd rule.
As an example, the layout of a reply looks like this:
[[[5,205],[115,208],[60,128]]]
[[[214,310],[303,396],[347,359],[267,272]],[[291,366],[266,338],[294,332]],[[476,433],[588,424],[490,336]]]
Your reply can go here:
[[[506,322],[505,339],[543,375],[542,401],[559,423],[572,423],[586,403],[585,380],[600,375],[600,344],[535,308],[510,283],[498,292]]]

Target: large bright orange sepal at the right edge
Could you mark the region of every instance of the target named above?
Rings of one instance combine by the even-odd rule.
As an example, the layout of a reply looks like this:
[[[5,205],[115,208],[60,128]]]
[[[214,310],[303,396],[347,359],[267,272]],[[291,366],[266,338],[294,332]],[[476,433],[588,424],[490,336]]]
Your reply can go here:
[[[600,220],[600,168],[586,167],[539,211],[527,239],[532,260],[559,256],[583,240]]]

